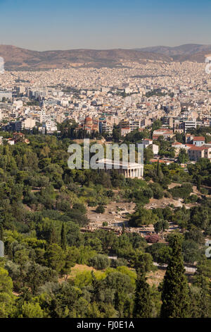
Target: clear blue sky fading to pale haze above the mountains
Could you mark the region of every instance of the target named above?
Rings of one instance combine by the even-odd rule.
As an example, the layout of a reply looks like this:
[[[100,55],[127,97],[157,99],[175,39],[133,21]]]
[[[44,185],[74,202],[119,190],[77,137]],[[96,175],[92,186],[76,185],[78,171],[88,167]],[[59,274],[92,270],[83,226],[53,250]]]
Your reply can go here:
[[[0,0],[0,28],[36,50],[211,44],[211,0]]]

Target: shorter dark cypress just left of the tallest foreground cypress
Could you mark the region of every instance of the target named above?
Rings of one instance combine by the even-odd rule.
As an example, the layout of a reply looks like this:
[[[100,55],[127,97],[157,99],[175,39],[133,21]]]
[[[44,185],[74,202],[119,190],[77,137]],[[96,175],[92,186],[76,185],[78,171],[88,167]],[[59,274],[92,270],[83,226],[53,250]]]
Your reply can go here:
[[[145,273],[137,271],[137,274],[133,317],[151,318],[152,302],[150,286],[146,282]]]

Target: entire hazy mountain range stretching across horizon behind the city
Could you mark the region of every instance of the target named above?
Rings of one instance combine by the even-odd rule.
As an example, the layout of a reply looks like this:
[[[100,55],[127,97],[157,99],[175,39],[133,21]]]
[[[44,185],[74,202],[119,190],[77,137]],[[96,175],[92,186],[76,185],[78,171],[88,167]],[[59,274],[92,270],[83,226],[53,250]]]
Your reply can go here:
[[[32,51],[11,45],[0,45],[7,70],[45,70],[70,66],[121,66],[124,61],[198,61],[211,54],[211,45],[187,44],[177,47],[145,47],[143,49],[70,49]]]

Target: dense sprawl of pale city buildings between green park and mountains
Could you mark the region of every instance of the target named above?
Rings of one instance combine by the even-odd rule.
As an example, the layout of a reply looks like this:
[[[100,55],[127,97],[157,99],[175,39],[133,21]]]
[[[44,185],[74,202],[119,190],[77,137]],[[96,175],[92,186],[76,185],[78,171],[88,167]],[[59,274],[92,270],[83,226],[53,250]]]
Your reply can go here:
[[[6,129],[38,126],[49,134],[76,121],[91,134],[121,126],[125,136],[164,118],[170,129],[210,126],[209,76],[205,64],[185,61],[123,63],[121,69],[54,69],[6,72],[1,76],[1,124]],[[178,130],[179,131],[179,130]]]

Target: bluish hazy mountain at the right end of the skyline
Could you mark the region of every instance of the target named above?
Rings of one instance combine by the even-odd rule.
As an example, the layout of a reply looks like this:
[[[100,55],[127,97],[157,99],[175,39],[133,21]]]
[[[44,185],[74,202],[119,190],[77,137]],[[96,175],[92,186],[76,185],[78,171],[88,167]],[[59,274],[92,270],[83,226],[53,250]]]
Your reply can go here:
[[[140,52],[152,52],[172,57],[174,61],[204,62],[205,56],[211,53],[211,45],[185,44],[176,47],[154,46],[135,49]]]

